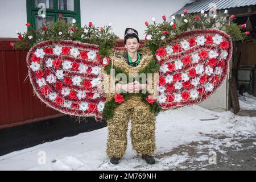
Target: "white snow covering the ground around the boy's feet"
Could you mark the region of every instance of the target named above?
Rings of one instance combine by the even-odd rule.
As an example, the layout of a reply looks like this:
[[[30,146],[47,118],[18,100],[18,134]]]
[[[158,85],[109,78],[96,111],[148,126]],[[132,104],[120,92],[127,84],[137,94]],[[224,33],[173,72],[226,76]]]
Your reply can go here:
[[[242,109],[255,109],[256,98],[247,94],[245,99],[240,97],[240,104]],[[168,170],[190,157],[187,152],[179,155],[165,154],[187,143],[198,142],[198,154],[205,148],[224,154],[225,151],[220,147],[222,145],[234,146],[239,150],[240,143],[232,140],[232,137],[236,135],[244,139],[255,136],[256,117],[242,117],[230,111],[217,113],[197,105],[182,107],[158,115],[155,135],[155,155],[161,157],[158,157],[154,165],[146,164],[131,149],[130,137],[121,162],[118,165],[109,163],[105,154],[108,136],[108,129],[105,127],[0,156],[0,170]],[[210,135],[228,137],[220,140],[213,139]],[[200,146],[204,141],[209,142]],[[200,162],[208,159],[209,155],[201,154],[193,160]]]

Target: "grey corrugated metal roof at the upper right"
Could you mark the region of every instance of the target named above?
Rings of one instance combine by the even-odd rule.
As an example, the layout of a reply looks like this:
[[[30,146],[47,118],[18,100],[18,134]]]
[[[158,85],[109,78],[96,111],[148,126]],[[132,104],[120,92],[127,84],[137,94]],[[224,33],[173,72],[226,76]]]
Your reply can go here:
[[[184,9],[188,9],[188,13],[198,13],[201,10],[209,11],[214,7],[213,5],[216,5],[215,7],[217,10],[222,10],[230,9],[232,7],[256,5],[256,0],[200,0],[184,6],[182,9],[174,13],[174,15],[182,14]]]

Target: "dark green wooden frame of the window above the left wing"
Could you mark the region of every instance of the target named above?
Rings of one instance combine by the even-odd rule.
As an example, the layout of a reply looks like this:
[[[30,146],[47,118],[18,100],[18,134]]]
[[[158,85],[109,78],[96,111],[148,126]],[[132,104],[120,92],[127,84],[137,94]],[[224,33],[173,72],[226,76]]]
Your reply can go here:
[[[46,9],[46,16],[53,16],[53,22],[56,22],[61,13],[64,17],[70,17],[76,19],[78,27],[81,27],[81,10],[80,0],[74,0],[74,11],[70,10],[58,10],[58,0],[53,0],[53,9]],[[27,22],[31,23],[31,26],[35,27],[35,16],[38,14],[39,7],[35,7],[34,0],[27,0]]]

